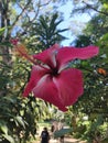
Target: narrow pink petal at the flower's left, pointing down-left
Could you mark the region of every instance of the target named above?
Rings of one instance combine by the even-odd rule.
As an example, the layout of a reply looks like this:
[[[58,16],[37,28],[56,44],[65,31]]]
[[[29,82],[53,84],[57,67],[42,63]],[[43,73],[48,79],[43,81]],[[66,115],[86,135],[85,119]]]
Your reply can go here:
[[[28,82],[23,92],[24,97],[26,97],[32,91],[32,89],[36,86],[37,81],[40,80],[40,78],[44,76],[46,73],[48,73],[48,69],[42,66],[34,65],[32,67],[30,81]]]

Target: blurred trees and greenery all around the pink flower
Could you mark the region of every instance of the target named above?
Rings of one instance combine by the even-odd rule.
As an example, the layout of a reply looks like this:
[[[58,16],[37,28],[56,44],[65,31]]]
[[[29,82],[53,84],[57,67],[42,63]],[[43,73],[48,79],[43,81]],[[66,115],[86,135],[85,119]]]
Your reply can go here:
[[[60,29],[63,13],[58,7],[65,0],[0,0],[0,142],[25,143],[34,136],[37,122],[56,119],[73,127],[76,138],[89,143],[99,131],[108,139],[108,1],[73,0],[74,14],[88,13],[90,21],[72,41],[72,46],[97,45],[99,55],[88,61],[76,61],[74,66],[84,72],[85,92],[68,112],[62,113],[52,105],[23,98],[30,77],[31,64],[14,55],[11,38],[19,37],[30,54],[43,51],[54,43],[61,44],[62,34],[71,29]],[[93,14],[94,13],[94,14]],[[73,25],[74,26],[74,25]],[[73,31],[72,31],[73,33]],[[74,36],[74,35],[73,35]]]

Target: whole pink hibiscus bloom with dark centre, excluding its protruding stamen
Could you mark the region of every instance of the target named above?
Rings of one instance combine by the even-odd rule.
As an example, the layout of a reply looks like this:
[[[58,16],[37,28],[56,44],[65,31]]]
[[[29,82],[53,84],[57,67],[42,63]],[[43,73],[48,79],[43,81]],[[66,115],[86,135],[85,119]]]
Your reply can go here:
[[[76,58],[86,59],[98,54],[98,47],[88,46],[84,48],[60,47],[57,44],[33,55],[34,64],[31,78],[24,89],[24,97],[33,92],[62,111],[75,103],[83,95],[83,74],[79,69],[68,67],[68,63]],[[34,62],[35,63],[35,62]]]

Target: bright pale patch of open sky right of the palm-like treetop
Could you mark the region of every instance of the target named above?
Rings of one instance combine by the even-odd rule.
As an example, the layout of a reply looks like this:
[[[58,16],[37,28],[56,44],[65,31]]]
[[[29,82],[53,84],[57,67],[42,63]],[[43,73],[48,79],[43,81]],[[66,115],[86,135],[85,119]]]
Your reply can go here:
[[[64,13],[64,22],[60,24],[60,29],[69,28],[72,30],[63,33],[64,36],[68,37],[68,40],[62,42],[62,45],[66,46],[68,46],[75,40],[76,34],[79,34],[82,32],[82,26],[84,28],[85,23],[90,20],[90,15],[88,15],[87,13],[71,16],[73,7],[73,3],[68,1],[65,6],[58,8],[58,10]]]

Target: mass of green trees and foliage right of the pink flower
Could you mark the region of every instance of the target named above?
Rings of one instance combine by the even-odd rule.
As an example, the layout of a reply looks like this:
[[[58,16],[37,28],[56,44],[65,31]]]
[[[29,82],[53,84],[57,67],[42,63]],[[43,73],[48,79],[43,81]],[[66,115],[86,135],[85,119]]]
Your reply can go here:
[[[106,0],[99,0],[99,2],[101,2],[99,11],[97,8],[100,4],[94,6],[94,9],[91,9],[93,4],[89,4],[88,9],[98,11],[98,13],[87,23],[82,35],[78,35],[77,40],[72,43],[79,47],[90,44],[99,46],[99,55],[97,57],[83,61],[78,65],[84,73],[85,90],[84,95],[73,106],[73,110],[82,123],[84,121],[80,120],[80,114],[85,113],[88,117],[85,132],[78,132],[79,127],[77,127],[75,134],[88,140],[89,143],[96,138],[96,132],[98,131],[101,136],[107,138],[106,125],[108,122],[108,2]],[[86,6],[87,3],[85,2],[85,9],[82,7],[79,10],[87,10]],[[99,73],[99,68],[104,69],[107,74]]]

